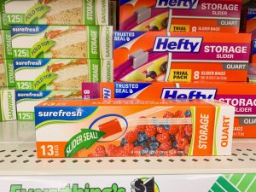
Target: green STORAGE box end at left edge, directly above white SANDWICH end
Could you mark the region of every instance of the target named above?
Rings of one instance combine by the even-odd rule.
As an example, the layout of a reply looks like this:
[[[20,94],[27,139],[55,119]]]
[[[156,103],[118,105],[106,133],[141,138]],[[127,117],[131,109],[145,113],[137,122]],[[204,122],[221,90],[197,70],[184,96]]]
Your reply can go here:
[[[13,60],[0,59],[0,87],[15,87],[15,70]]]

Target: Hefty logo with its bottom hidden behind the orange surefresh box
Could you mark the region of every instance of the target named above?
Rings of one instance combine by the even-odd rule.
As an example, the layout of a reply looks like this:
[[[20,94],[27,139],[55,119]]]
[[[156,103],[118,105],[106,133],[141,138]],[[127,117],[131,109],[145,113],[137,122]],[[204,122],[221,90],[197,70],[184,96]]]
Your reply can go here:
[[[217,90],[214,89],[177,89],[165,88],[162,99],[215,99]]]

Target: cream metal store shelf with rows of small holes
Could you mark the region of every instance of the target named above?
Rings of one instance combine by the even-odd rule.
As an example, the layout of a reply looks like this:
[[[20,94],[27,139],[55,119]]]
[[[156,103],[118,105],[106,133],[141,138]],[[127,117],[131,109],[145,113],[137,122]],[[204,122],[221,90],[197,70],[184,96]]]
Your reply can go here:
[[[222,174],[256,172],[256,140],[235,140],[231,156],[38,159],[32,123],[0,127],[0,175]],[[68,170],[67,170],[68,167]]]

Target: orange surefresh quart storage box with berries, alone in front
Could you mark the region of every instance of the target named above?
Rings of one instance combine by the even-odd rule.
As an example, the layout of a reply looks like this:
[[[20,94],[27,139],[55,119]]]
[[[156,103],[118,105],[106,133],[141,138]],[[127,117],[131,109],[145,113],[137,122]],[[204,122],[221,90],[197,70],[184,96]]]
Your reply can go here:
[[[35,107],[38,157],[230,155],[234,113],[218,101],[46,101]]]

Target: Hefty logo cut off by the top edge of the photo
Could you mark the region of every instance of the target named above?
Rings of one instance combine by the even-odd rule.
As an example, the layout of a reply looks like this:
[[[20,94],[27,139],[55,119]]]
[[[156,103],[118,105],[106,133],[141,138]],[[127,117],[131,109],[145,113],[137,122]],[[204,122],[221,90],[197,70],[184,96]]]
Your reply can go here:
[[[197,9],[199,0],[157,0],[156,8]]]

